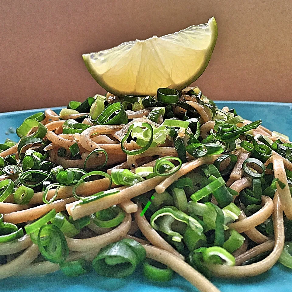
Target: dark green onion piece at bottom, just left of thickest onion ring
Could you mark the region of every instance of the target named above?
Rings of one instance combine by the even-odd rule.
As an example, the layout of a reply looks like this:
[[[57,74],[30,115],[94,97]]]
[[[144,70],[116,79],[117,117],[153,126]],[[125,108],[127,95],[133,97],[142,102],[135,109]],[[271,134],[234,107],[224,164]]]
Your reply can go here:
[[[68,277],[78,277],[87,274],[91,270],[91,263],[85,259],[59,264],[61,271]]]

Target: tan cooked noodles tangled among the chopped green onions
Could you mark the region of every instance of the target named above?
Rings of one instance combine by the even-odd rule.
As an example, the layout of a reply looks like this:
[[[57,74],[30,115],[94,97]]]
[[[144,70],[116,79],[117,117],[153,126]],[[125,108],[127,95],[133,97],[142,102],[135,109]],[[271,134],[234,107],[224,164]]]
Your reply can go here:
[[[200,114],[202,125],[200,128],[201,136],[206,137],[207,133],[213,129],[215,122],[210,120],[210,117],[202,106],[194,101],[188,102]],[[228,111],[225,108],[226,110]],[[177,151],[170,141],[163,145],[149,148],[140,155],[129,156],[122,151],[121,140],[133,121],[146,122],[152,124],[154,127],[159,126],[159,124],[147,119],[149,112],[149,109],[138,112],[127,111],[129,119],[133,120],[126,125],[92,126],[84,130],[81,134],[62,134],[62,124],[65,120],[60,120],[60,116],[54,113],[54,111],[50,109],[46,110],[46,119],[42,123],[48,129],[44,139],[49,140],[50,144],[44,150],[49,151],[51,162],[61,165],[66,169],[71,167],[83,168],[85,159],[90,152],[98,148],[104,149],[108,154],[107,172],[109,174],[113,168],[134,171],[136,167],[141,165],[153,166],[159,157],[177,156]],[[67,116],[66,119],[75,119],[82,115],[71,115]],[[83,123],[92,125],[87,118],[83,120]],[[248,123],[248,121],[245,121],[245,123]],[[274,139],[271,131],[262,126],[253,130],[253,135],[256,134],[264,134]],[[70,160],[57,155],[60,147],[69,149],[74,143],[78,144],[82,159]],[[128,143],[127,149],[138,149],[138,146],[134,142]],[[251,186],[251,179],[244,177],[242,171],[242,162],[249,157],[249,153],[243,149],[235,150],[234,153],[238,156],[238,161],[234,166],[227,186],[240,192],[242,189]],[[0,153],[0,157],[5,158],[11,154],[17,154],[17,144]],[[126,212],[126,216],[123,222],[116,228],[99,228],[91,223],[88,228],[85,228],[78,235],[78,238],[66,238],[70,250],[67,261],[78,258],[92,260],[99,252],[99,249],[109,243],[119,241],[122,238],[134,238],[143,244],[148,258],[155,259],[169,266],[200,291],[219,291],[209,280],[190,266],[184,257],[151,227],[144,216],[140,216],[142,211],[141,205],[131,201],[132,198],[153,189],[157,193],[164,192],[177,179],[198,168],[200,165],[212,164],[218,156],[220,155],[209,155],[198,159],[189,156],[188,162],[183,163],[182,167],[170,176],[155,176],[133,186],[117,187],[112,185],[112,188],[117,188],[120,192],[83,205],[76,204],[78,201],[72,194],[72,186],[61,187],[56,200],[49,204],[43,204],[43,192],[35,193],[29,205],[17,205],[13,202],[13,197],[9,196],[5,202],[0,203],[0,213],[4,214],[5,222],[18,224],[22,222],[30,223],[52,209],[55,209],[56,212],[67,210],[68,214],[76,220],[110,206],[120,205]],[[99,160],[102,159],[103,157],[92,160],[90,167],[94,169],[96,165],[101,164]],[[273,152],[266,165],[270,162],[273,163],[274,176],[287,185],[285,168],[292,171],[292,164],[276,152]],[[109,180],[107,178],[85,182],[78,187],[77,194],[90,196],[99,191],[106,190],[108,186]],[[54,191],[49,191],[48,199],[54,195]],[[284,246],[283,210],[287,218],[292,219],[292,199],[289,188],[278,188],[273,200],[269,197],[262,196],[262,208],[258,212],[249,217],[246,217],[242,212],[239,219],[229,225],[230,228],[242,233],[246,238],[242,247],[234,253],[236,265],[206,264],[207,268],[213,275],[224,278],[255,276],[269,270],[279,259]],[[271,214],[273,216],[274,238],[262,235],[255,228],[266,221]],[[133,237],[134,232],[138,229],[141,230],[147,240]],[[247,250],[249,239],[258,245]],[[270,251],[270,253],[265,259],[250,265],[241,266],[243,262],[266,251]],[[7,263],[0,266],[0,277],[43,275],[59,269],[58,264],[48,261],[35,261],[39,253],[38,246],[33,244],[28,235],[24,235],[22,238],[13,242],[0,244],[0,255],[7,256]]]

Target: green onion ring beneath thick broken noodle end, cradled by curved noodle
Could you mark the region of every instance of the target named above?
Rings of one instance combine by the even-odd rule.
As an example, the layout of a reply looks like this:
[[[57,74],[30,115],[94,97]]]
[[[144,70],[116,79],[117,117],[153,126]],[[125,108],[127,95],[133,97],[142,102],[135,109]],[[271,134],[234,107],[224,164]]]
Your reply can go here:
[[[118,226],[124,220],[125,216],[125,211],[115,205],[91,214],[92,221],[102,228]]]

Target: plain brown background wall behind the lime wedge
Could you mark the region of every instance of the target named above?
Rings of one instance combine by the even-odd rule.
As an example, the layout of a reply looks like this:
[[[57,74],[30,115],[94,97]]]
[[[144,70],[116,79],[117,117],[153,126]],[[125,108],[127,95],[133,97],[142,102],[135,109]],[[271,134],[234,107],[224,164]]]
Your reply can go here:
[[[290,0],[1,0],[0,110],[65,105],[104,90],[82,53],[173,33],[215,16],[196,82],[212,99],[292,102]]]

